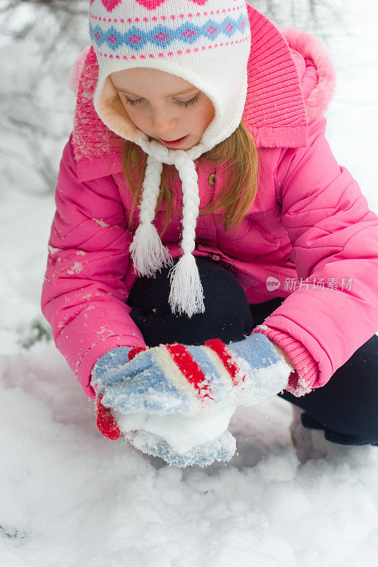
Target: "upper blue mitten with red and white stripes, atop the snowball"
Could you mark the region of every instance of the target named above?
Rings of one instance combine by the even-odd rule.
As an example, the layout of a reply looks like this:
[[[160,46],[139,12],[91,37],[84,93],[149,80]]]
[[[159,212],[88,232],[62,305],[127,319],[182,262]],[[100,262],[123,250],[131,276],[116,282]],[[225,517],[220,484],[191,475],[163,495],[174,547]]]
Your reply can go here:
[[[255,405],[282,391],[293,371],[262,333],[227,345],[211,339],[201,347],[138,347],[128,352],[133,356],[110,368],[101,358],[92,373],[104,406],[125,414],[198,415],[214,405]]]

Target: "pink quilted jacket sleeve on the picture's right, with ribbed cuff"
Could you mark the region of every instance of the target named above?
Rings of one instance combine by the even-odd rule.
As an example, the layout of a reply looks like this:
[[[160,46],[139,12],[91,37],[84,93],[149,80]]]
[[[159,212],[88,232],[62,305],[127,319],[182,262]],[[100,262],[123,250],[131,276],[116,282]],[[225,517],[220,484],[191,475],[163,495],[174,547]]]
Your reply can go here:
[[[292,339],[306,359],[310,371],[298,372],[288,388],[294,395],[326,384],[378,329],[378,217],[338,165],[325,130],[326,118],[311,120],[309,145],[282,152],[277,167],[277,200],[299,286],[262,330],[268,336],[272,330],[288,354]]]

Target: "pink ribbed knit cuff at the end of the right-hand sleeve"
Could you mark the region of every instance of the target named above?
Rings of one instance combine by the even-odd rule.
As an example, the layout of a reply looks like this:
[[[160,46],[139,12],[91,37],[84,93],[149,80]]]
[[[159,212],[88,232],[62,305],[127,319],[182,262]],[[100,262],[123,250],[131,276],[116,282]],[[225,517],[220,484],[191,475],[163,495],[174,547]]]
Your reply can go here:
[[[319,369],[318,364],[316,364],[315,359],[313,359],[306,347],[294,339],[294,337],[291,337],[291,335],[274,329],[274,327],[257,325],[252,330],[251,335],[255,332],[261,332],[268,339],[277,343],[293,361],[295,372],[291,372],[289,383],[285,389],[297,398],[311,392],[313,383],[318,379]]]

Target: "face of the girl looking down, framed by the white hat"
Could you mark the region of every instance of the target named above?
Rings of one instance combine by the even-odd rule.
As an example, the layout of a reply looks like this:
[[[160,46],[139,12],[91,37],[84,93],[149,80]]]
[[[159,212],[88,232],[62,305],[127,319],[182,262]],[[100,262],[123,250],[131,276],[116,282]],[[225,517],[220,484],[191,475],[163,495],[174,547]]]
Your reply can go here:
[[[111,73],[111,81],[135,126],[167,147],[190,150],[215,116],[204,92],[160,69],[126,69]]]

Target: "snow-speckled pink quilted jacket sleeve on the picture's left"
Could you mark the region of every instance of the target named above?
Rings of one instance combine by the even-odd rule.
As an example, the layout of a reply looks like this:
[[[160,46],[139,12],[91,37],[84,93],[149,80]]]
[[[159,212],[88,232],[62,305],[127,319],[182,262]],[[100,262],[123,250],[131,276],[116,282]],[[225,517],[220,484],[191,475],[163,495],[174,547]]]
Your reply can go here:
[[[96,360],[115,347],[145,346],[130,318],[123,281],[131,235],[112,176],[77,181],[72,135],[63,151],[55,191],[41,308],[57,349],[83,390]]]

